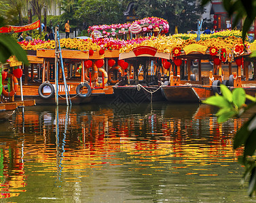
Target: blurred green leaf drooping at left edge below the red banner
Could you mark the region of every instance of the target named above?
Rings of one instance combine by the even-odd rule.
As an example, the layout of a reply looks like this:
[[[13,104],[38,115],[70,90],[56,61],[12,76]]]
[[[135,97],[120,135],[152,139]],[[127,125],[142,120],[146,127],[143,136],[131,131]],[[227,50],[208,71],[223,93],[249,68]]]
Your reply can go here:
[[[7,35],[0,35],[0,47],[1,54],[5,52],[6,54],[1,55],[1,62],[5,63],[6,60],[11,56],[15,55],[17,60],[23,62],[25,65],[29,64],[26,57],[26,52],[18,45],[18,43]]]

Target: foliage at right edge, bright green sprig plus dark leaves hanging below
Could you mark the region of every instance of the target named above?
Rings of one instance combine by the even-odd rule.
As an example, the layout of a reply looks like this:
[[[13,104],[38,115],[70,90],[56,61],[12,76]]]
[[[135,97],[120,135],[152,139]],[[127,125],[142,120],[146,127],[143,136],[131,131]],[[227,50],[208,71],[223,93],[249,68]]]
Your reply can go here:
[[[218,106],[220,109],[217,112],[218,122],[225,122],[232,116],[240,116],[249,108],[252,108],[256,104],[256,97],[246,95],[244,89],[236,88],[232,92],[221,85],[220,95],[209,97],[205,101],[205,104]],[[246,105],[245,101],[249,99],[251,104]],[[243,181],[249,179],[249,196],[253,195],[256,191],[256,164],[255,164],[255,150],[256,150],[256,114],[254,114],[242,127],[237,131],[234,137],[233,148],[236,150],[244,145],[244,154],[239,161],[244,164],[245,171],[243,175]],[[250,176],[251,175],[251,176]]]

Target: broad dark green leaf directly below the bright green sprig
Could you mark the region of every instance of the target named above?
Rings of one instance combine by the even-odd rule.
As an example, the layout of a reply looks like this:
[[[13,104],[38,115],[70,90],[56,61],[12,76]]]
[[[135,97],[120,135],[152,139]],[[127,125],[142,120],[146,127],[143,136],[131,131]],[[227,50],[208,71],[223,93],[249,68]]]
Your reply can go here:
[[[236,148],[239,148],[241,145],[243,145],[245,143],[247,137],[249,137],[251,132],[248,130],[248,126],[249,126],[251,120],[253,120],[253,118],[255,118],[255,116],[256,116],[256,114],[254,116],[252,116],[250,118],[250,120],[245,122],[244,125],[242,125],[242,127],[239,129],[239,131],[236,132],[236,135],[234,137],[234,143],[233,143],[234,150],[236,150]]]

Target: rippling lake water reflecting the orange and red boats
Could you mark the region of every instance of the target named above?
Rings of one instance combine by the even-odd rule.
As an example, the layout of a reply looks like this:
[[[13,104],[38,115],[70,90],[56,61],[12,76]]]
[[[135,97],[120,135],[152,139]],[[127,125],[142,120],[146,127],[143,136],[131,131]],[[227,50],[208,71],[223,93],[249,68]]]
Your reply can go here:
[[[0,123],[0,202],[256,202],[234,133],[199,104],[35,106]],[[58,121],[58,122],[57,122]]]

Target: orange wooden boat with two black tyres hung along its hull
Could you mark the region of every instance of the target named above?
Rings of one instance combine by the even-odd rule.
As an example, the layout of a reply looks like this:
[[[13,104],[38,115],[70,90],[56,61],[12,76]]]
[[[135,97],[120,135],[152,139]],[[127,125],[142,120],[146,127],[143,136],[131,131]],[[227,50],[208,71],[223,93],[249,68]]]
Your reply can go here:
[[[35,99],[37,104],[55,104],[54,58],[55,53],[53,49],[28,51],[28,59],[31,66],[24,67],[24,85],[22,89],[25,99]],[[62,50],[62,58],[64,60],[69,98],[71,98],[72,104],[84,104],[96,99],[98,95],[106,95],[107,97],[107,95],[113,94],[112,87],[105,85],[105,83],[101,87],[96,87],[92,81],[86,81],[84,62],[89,59],[94,61],[104,59],[104,56],[96,51],[94,55],[89,56],[88,51],[64,49]],[[81,73],[78,73],[77,67],[80,64],[82,70]],[[58,67],[60,67],[60,64]],[[66,104],[65,83],[61,68],[58,68],[58,72],[58,101],[59,104]],[[42,84],[44,84],[44,87],[41,86]],[[15,97],[18,99],[21,97],[20,89],[18,89]]]

